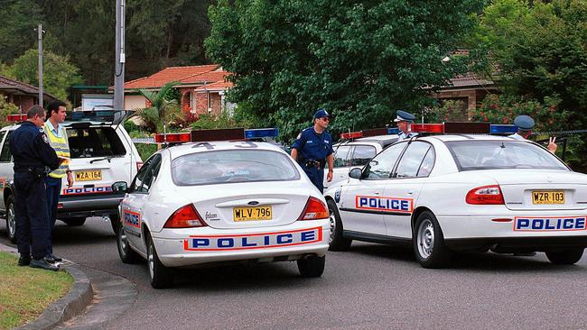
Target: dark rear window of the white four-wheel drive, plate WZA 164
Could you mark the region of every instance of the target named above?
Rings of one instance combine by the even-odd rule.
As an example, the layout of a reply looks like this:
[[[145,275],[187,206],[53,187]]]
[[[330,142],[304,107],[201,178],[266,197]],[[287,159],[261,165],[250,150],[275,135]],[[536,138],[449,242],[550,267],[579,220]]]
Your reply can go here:
[[[68,128],[71,158],[123,156],[125,145],[112,127]]]

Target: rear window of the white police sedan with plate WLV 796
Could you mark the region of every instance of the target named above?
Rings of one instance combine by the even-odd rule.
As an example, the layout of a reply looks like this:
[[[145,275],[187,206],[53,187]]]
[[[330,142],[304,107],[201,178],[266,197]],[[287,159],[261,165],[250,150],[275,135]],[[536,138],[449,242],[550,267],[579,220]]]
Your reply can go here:
[[[205,151],[172,160],[177,186],[300,179],[292,160],[277,151]]]

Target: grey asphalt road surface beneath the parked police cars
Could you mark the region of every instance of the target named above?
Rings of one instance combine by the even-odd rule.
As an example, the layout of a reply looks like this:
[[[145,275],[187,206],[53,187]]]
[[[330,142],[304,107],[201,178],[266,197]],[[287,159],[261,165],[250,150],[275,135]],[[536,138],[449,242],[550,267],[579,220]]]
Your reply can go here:
[[[0,242],[8,243],[0,221]],[[123,264],[110,224],[58,221],[55,254],[123,276],[139,295],[106,329],[584,329],[587,257],[554,266],[544,253],[462,255],[448,270],[424,270],[410,250],[353,243],[330,252],[320,279],[295,262],[182,270],[155,290],[144,262]]]

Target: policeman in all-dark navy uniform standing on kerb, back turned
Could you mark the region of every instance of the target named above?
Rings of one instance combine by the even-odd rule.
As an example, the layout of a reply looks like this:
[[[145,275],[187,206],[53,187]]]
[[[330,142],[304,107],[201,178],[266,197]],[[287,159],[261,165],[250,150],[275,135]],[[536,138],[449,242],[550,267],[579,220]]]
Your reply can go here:
[[[21,255],[20,266],[59,270],[44,259],[51,234],[45,167],[55,170],[60,165],[41,128],[45,115],[42,106],[33,105],[26,113],[27,121],[10,136],[10,151],[14,158],[16,243]]]

